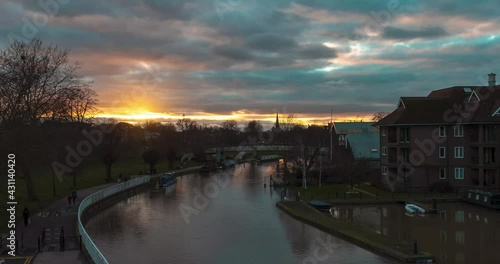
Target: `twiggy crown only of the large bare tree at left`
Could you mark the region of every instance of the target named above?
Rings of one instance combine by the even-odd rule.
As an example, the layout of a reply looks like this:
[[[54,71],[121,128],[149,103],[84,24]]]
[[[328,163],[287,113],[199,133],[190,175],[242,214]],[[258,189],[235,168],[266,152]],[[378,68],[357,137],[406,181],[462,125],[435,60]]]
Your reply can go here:
[[[33,39],[16,41],[0,53],[0,122],[4,126],[39,124],[44,117],[61,115],[61,109],[81,119],[95,106],[91,83],[78,75],[80,65],[70,64],[68,52]]]

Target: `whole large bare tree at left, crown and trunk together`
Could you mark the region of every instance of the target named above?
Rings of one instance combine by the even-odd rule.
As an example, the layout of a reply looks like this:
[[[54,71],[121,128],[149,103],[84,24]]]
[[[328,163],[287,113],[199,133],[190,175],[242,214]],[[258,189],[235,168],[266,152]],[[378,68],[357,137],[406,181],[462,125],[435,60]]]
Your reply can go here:
[[[78,74],[80,65],[70,63],[68,52],[43,45],[39,39],[15,41],[0,51],[0,134],[13,135],[11,151],[16,153],[29,200],[37,200],[31,173],[34,163],[50,145],[42,120],[82,120],[97,101],[91,82]],[[71,102],[79,102],[76,108],[68,105],[69,90],[84,95],[71,97]]]

